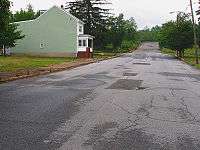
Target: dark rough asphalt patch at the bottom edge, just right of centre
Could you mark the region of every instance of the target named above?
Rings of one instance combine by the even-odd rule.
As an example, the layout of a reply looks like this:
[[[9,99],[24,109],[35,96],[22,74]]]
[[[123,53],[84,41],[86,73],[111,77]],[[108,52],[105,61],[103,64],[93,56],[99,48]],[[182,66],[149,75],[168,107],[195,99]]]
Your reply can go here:
[[[117,130],[113,136],[106,136]],[[142,129],[119,129],[116,123],[105,123],[92,128],[83,146],[93,150],[159,150],[162,146],[153,141],[154,136]]]

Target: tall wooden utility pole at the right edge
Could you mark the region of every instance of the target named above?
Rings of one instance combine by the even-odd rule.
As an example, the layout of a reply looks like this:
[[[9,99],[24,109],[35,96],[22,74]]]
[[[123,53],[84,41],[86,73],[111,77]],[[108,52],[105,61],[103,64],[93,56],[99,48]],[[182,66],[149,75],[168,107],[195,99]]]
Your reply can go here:
[[[195,46],[195,57],[196,57],[196,64],[199,64],[199,58],[198,58],[198,42],[197,42],[197,30],[196,30],[196,24],[194,20],[194,10],[193,10],[193,4],[192,0],[190,0],[190,8],[191,8],[191,14],[192,14],[192,24],[193,24],[193,32],[194,32],[194,46]]]

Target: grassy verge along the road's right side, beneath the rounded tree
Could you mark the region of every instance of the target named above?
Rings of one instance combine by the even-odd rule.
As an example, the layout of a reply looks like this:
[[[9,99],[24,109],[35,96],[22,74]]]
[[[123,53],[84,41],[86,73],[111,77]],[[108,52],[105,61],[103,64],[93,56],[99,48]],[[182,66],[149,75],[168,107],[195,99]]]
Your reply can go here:
[[[164,48],[164,49],[161,50],[161,52],[164,53],[164,54],[172,55],[172,56],[176,55],[176,52],[173,51],[173,50],[170,50],[170,49]],[[183,57],[183,59],[186,63],[200,69],[200,64],[196,64],[194,53],[195,53],[194,49],[185,50],[185,56]],[[200,60],[200,57],[199,57],[199,60]]]

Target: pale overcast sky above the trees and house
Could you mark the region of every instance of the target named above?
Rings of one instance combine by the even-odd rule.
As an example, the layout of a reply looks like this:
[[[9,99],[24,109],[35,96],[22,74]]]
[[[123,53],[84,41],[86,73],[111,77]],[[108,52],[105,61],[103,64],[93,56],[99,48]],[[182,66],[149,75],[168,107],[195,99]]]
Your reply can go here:
[[[32,4],[36,10],[48,9],[53,5],[65,4],[67,0],[11,0],[12,10],[26,8]],[[70,1],[70,0],[68,0]],[[198,0],[193,0],[197,2]],[[189,0],[111,0],[114,13],[124,13],[126,18],[134,17],[140,29],[160,25],[175,18],[172,11],[189,11]],[[195,4],[197,5],[197,4]],[[196,8],[195,8],[196,9]]]

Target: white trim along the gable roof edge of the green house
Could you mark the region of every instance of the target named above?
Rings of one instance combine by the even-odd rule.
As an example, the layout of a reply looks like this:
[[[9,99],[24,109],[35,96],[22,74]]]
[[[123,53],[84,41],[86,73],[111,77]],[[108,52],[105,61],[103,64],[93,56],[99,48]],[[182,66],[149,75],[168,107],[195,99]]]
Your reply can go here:
[[[52,9],[58,9],[59,11],[63,12],[65,15],[72,17],[74,20],[76,20],[77,22],[81,23],[81,24],[85,24],[83,21],[81,21],[80,19],[78,19],[77,17],[75,17],[74,15],[70,14],[69,12],[67,12],[66,10],[58,7],[58,6],[53,6],[51,7],[49,10],[47,10],[46,12],[44,12],[42,15],[40,15],[39,17],[37,17],[36,19],[33,20],[26,20],[26,21],[18,21],[18,22],[14,22],[14,23],[23,23],[23,22],[32,22],[35,20],[40,19],[43,15],[47,14],[50,10]]]

